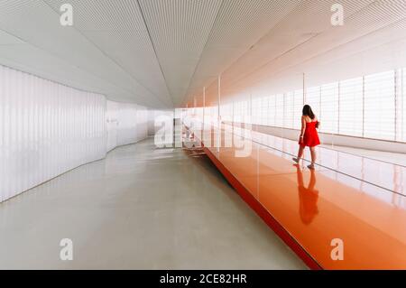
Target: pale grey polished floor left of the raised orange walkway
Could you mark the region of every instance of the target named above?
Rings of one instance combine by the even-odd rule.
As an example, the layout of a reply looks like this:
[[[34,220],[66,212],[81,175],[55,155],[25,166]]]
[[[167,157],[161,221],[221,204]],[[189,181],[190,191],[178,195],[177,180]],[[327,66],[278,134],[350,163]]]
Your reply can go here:
[[[306,268],[206,157],[152,139],[0,204],[0,244],[0,269]]]

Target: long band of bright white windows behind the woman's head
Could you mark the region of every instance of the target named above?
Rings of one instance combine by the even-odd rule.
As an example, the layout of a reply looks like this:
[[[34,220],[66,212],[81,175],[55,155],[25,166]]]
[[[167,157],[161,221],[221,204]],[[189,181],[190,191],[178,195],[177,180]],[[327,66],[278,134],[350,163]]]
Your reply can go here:
[[[304,104],[322,125],[320,132],[406,142],[406,69],[399,70],[395,98],[395,70],[328,83],[303,90],[253,98],[234,105],[235,122],[300,129]],[[395,107],[396,106],[396,107]],[[231,116],[232,107],[222,107]],[[395,123],[397,122],[397,123]]]

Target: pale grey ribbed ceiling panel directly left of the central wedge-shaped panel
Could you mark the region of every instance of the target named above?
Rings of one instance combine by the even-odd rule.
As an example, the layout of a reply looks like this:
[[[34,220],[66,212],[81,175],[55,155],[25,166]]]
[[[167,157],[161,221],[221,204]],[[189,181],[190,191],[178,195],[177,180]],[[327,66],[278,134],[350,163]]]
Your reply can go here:
[[[58,11],[65,0],[44,0]],[[140,7],[134,0],[70,1],[75,28],[168,107],[173,103],[153,51]]]

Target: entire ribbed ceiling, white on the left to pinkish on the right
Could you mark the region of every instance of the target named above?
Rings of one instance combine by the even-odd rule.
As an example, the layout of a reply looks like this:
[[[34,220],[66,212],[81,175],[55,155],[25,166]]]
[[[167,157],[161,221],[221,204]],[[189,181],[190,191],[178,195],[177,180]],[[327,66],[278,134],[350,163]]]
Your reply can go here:
[[[60,5],[74,26],[60,25]],[[179,107],[406,65],[403,0],[0,0],[0,64],[116,101]]]

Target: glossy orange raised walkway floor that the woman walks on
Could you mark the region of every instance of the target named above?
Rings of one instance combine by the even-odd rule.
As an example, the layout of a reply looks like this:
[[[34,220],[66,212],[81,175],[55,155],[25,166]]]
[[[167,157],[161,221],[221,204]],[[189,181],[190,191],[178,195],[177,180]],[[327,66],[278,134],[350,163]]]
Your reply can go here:
[[[223,138],[232,136],[222,133]],[[236,190],[251,194],[256,201],[252,207],[259,214],[260,210],[269,213],[295,242],[293,250],[298,253],[294,246],[300,246],[314,260],[316,265],[310,267],[406,269],[406,200],[401,195],[405,182],[399,175],[387,178],[392,170],[403,176],[404,167],[319,150],[320,165],[311,172],[292,163],[293,144],[284,151],[259,144],[258,136],[253,137],[247,157],[235,157],[238,148],[202,142]],[[211,139],[215,138],[212,132]],[[328,153],[336,161],[340,155],[345,157],[340,167],[329,167],[333,159]],[[374,166],[363,166],[359,172],[358,161]],[[382,170],[382,165],[391,171]],[[337,238],[343,240],[344,260],[331,257],[331,242]]]

